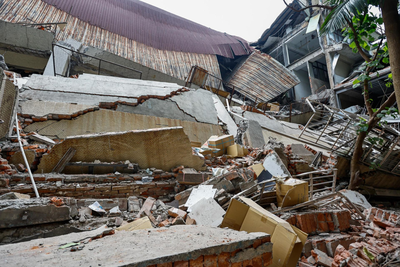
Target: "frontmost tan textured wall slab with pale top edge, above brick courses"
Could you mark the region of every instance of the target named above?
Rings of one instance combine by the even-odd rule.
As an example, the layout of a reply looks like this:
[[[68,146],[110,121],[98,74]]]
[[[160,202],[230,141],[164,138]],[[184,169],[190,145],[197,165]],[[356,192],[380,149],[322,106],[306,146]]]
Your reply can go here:
[[[110,132],[70,136],[54,145],[44,154],[36,173],[49,173],[69,148],[76,153],[70,162],[125,162],[139,164],[140,168],[170,171],[179,165],[204,170],[204,160],[192,154],[188,136],[182,127]],[[66,166],[63,173],[82,173],[82,167]],[[107,173],[107,172],[105,172]]]

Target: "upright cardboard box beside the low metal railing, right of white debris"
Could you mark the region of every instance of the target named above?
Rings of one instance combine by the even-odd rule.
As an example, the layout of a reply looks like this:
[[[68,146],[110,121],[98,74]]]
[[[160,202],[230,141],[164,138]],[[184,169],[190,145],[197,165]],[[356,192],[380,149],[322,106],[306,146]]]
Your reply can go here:
[[[308,182],[289,178],[276,183],[276,200],[281,208],[296,206],[308,201]]]

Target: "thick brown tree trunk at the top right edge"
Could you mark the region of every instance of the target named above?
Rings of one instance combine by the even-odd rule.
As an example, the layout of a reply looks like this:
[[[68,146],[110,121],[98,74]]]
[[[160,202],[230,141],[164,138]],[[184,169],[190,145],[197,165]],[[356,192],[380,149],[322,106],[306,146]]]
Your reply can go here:
[[[398,0],[382,0],[379,5],[382,10],[388,41],[390,68],[397,104],[400,103],[400,17],[397,9],[398,3]]]

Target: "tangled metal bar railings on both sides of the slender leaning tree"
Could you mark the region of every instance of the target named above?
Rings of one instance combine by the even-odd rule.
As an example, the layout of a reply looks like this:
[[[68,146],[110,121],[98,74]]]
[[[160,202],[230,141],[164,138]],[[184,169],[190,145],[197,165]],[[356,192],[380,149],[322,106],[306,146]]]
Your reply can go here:
[[[308,99],[307,99],[308,101]],[[308,101],[310,107],[314,101]],[[358,136],[357,124],[365,123],[367,116],[318,103],[322,109],[314,109],[314,115],[299,135],[299,140],[315,144],[344,156],[351,156]],[[400,175],[400,132],[380,123],[372,128],[363,143],[361,163],[372,169]]]

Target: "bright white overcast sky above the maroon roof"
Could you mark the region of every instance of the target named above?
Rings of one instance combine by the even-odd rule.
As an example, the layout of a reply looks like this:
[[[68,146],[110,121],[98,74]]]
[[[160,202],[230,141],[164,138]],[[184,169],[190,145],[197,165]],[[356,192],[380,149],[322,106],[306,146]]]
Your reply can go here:
[[[258,40],[285,8],[282,0],[142,1],[213,30],[242,37],[248,42]]]

